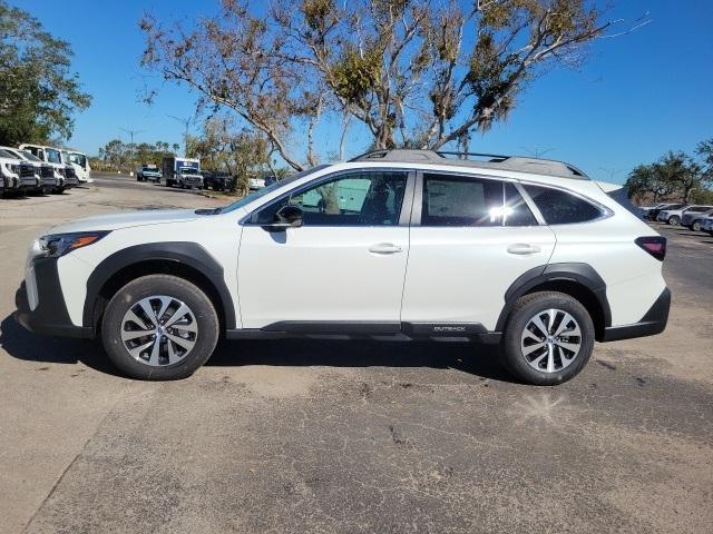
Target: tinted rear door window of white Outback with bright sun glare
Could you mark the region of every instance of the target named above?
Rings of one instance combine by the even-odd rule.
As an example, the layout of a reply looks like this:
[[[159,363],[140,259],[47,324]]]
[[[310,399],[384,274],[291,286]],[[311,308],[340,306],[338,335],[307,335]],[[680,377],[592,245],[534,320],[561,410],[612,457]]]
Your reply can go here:
[[[535,226],[509,182],[449,175],[423,176],[422,226]]]

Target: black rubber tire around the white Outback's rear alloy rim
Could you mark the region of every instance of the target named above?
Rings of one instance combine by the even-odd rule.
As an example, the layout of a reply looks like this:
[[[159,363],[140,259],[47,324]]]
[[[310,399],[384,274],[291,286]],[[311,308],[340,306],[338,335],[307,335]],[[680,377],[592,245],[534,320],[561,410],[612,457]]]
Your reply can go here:
[[[579,325],[580,347],[572,363],[551,373],[533,368],[521,348],[521,336],[530,318],[547,309],[560,309],[572,315]],[[522,383],[536,386],[554,386],[574,378],[587,364],[594,349],[594,324],[586,308],[575,298],[558,291],[533,293],[521,297],[512,307],[501,342],[505,366]],[[561,360],[560,360],[561,362]]]

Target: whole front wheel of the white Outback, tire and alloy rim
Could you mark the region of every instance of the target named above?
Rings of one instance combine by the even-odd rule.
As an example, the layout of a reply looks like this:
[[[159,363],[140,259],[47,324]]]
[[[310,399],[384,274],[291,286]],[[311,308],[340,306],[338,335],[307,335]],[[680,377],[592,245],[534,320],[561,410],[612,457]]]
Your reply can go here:
[[[109,300],[101,338],[111,363],[133,378],[179,379],[213,354],[218,318],[211,299],[189,281],[143,276]]]

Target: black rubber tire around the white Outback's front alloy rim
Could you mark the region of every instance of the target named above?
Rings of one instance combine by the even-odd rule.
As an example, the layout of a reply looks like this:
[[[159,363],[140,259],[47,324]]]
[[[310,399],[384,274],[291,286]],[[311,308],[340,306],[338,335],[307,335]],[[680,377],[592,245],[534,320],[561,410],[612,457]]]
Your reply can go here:
[[[152,366],[135,359],[121,340],[125,314],[139,300],[155,295],[185,303],[197,324],[195,346],[173,365]],[[192,283],[169,275],[137,278],[119,289],[109,300],[101,320],[101,340],[111,363],[126,375],[145,380],[186,378],[207,362],[218,340],[219,324],[211,299]]]

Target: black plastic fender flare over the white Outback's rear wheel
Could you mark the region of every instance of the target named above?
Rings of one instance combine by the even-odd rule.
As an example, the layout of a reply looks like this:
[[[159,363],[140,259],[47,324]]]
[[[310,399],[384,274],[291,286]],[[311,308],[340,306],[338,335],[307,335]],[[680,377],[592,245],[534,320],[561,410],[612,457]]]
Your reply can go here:
[[[505,306],[498,317],[496,332],[502,332],[512,306],[522,295],[534,287],[548,281],[574,281],[586,287],[602,308],[603,327],[612,326],[612,309],[606,298],[606,284],[599,274],[588,264],[549,264],[534,267],[520,275],[505,291]]]

